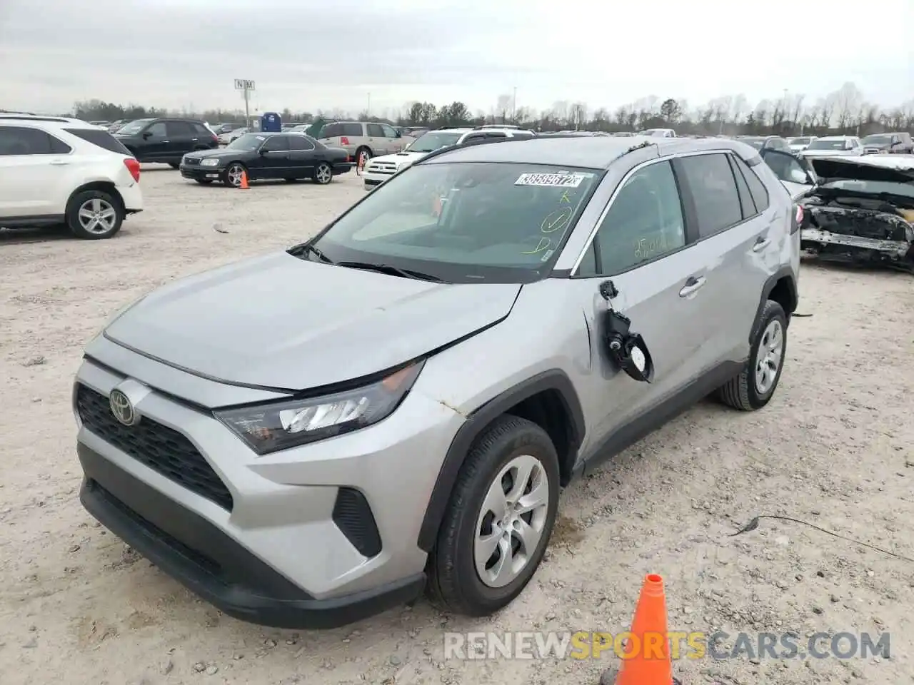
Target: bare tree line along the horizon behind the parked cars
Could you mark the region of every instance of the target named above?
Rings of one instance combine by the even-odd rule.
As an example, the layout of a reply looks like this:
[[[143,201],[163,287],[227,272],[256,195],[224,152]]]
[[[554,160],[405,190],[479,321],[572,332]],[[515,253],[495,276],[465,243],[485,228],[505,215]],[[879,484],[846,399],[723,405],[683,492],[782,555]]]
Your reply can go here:
[[[76,102],[68,112],[85,121],[116,121],[165,115],[195,116],[209,123],[234,122],[243,125],[243,111],[166,111],[140,105],[121,105],[101,100]],[[489,111],[471,111],[464,102],[435,105],[412,101],[397,109],[370,113],[339,109],[280,112],[282,121],[311,123],[325,120],[356,119],[384,121],[400,126],[457,126],[484,123],[511,123],[538,131],[638,131],[648,128],[673,128],[680,134],[697,135],[823,135],[914,129],[914,100],[896,107],[880,107],[866,100],[856,84],[845,83],[839,90],[818,100],[807,100],[798,93],[784,91],[780,98],[749,103],[745,95],[728,95],[692,107],[687,100],[647,96],[614,110],[591,110],[586,102],[560,100],[544,111],[517,107],[511,95],[502,95]]]

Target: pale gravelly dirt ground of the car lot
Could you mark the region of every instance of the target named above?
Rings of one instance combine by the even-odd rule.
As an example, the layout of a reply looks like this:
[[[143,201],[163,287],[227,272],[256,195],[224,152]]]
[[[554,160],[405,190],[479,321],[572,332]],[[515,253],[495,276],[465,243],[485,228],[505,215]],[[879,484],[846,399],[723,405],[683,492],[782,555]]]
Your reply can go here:
[[[901,683],[914,677],[914,280],[805,267],[778,395],[710,403],[564,494],[547,563],[490,620],[425,604],[292,633],[221,616],[80,507],[69,406],[106,317],[169,279],[301,241],[362,195],[201,187],[143,172],[147,211],[110,241],[0,236],[0,681],[14,683],[595,683],[615,659],[443,660],[442,633],[625,630],[641,578],[664,575],[671,630],[891,633],[891,659],[684,659],[685,683]],[[226,232],[219,232],[221,231]]]

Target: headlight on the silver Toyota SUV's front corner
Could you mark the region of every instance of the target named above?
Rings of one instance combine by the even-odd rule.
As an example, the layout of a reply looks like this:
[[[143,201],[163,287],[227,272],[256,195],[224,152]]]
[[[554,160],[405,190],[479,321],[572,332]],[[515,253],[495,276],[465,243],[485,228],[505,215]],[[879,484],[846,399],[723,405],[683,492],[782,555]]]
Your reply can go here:
[[[352,390],[215,412],[259,455],[298,447],[376,424],[399,406],[424,362]]]

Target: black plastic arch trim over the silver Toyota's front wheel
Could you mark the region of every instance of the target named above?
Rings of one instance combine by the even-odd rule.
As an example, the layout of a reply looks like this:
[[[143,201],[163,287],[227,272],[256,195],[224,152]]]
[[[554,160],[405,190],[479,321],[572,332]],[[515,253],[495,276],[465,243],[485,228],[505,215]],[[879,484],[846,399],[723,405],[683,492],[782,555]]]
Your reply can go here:
[[[568,374],[564,371],[559,369],[545,371],[514,385],[501,395],[495,396],[467,416],[466,421],[451,441],[451,447],[448,448],[447,454],[444,456],[444,461],[441,463],[441,469],[438,472],[438,479],[435,480],[435,487],[431,491],[431,497],[425,510],[425,517],[422,519],[418,541],[421,550],[430,553],[435,545],[441,521],[444,519],[444,512],[447,510],[448,502],[451,501],[457,474],[469,454],[473,440],[483,432],[484,428],[494,418],[505,414],[508,409],[517,403],[547,390],[557,391],[561,398],[561,402],[571,419],[569,448],[572,453],[577,453],[584,439],[584,411],[580,405],[578,392],[571,383]]]

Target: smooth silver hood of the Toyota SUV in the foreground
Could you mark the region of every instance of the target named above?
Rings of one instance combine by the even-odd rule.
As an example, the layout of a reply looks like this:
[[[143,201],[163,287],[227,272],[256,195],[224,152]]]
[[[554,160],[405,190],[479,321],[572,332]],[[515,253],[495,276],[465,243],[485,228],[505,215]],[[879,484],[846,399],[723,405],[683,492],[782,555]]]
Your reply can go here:
[[[285,252],[154,290],[105,329],[190,373],[303,390],[375,374],[503,320],[516,284],[451,285]]]

